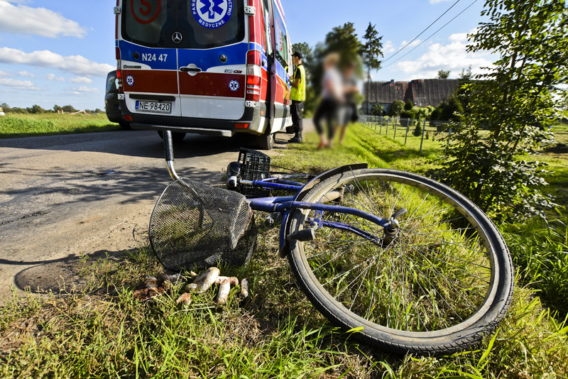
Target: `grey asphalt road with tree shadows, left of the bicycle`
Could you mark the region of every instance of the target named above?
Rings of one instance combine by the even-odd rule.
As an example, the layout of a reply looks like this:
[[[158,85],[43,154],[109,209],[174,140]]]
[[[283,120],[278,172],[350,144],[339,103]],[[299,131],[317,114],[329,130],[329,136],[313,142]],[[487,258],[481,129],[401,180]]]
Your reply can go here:
[[[288,138],[278,134],[271,154]],[[175,145],[178,174],[221,184],[245,143],[187,135]],[[155,131],[0,140],[0,302],[11,289],[69,289],[80,254],[145,245],[170,181]]]

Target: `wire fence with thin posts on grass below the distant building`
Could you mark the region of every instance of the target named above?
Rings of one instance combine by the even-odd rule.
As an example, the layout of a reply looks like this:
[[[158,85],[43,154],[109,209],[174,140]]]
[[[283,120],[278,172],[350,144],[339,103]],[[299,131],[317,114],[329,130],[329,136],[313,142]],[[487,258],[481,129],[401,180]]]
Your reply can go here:
[[[404,141],[405,145],[417,147],[420,141],[420,153],[425,147],[426,141],[449,143],[452,136],[451,123],[446,121],[429,121],[401,119],[400,117],[388,116],[360,116],[361,123],[367,128],[377,131],[381,136],[392,138],[394,141]]]

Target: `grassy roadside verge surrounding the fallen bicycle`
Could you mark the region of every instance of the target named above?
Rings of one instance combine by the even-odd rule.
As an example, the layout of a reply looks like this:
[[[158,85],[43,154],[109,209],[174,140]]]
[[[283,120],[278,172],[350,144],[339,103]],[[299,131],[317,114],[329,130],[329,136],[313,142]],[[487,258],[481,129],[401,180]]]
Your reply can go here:
[[[276,156],[276,165],[321,171],[368,162],[414,172],[428,156],[356,127],[344,146],[314,150],[315,136]],[[432,152],[432,156],[434,156]],[[262,216],[258,216],[261,224]],[[261,227],[262,229],[262,227]],[[511,231],[514,233],[515,231]],[[556,242],[562,242],[562,239]],[[534,287],[519,285],[495,334],[473,350],[442,357],[395,356],[350,339],[330,326],[298,290],[278,258],[278,230],[261,230],[253,261],[224,268],[247,277],[249,300],[232,290],[225,307],[213,293],[175,303],[182,285],[153,302],[133,296],[141,274],[161,268],[148,248],[89,260],[89,285],[67,296],[16,297],[0,309],[3,378],[562,378],[568,375],[567,331]],[[533,262],[534,263],[534,262]],[[528,263],[532,264],[532,263]],[[554,270],[554,268],[552,268]],[[550,275],[537,270],[542,275]]]

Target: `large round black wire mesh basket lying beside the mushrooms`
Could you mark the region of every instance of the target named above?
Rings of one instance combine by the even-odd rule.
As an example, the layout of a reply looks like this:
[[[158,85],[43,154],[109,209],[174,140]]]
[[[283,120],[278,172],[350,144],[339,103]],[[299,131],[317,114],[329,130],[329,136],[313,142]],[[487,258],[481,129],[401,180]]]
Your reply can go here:
[[[150,220],[151,246],[168,270],[244,265],[256,236],[246,197],[185,177],[164,189]]]

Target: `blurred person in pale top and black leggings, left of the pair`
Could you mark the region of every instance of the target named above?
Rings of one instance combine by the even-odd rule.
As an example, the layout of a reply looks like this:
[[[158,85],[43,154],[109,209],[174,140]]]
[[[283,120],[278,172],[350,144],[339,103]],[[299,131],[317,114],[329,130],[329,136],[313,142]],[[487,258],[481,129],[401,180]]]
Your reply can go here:
[[[324,76],[322,79],[322,101],[317,106],[314,115],[314,126],[320,135],[320,145],[317,148],[323,148],[333,145],[333,136],[335,132],[334,123],[337,121],[337,111],[339,105],[344,102],[342,75],[337,70],[339,63],[339,54],[330,53],[324,59]],[[322,128],[322,120],[327,122],[327,137],[324,135]]]

